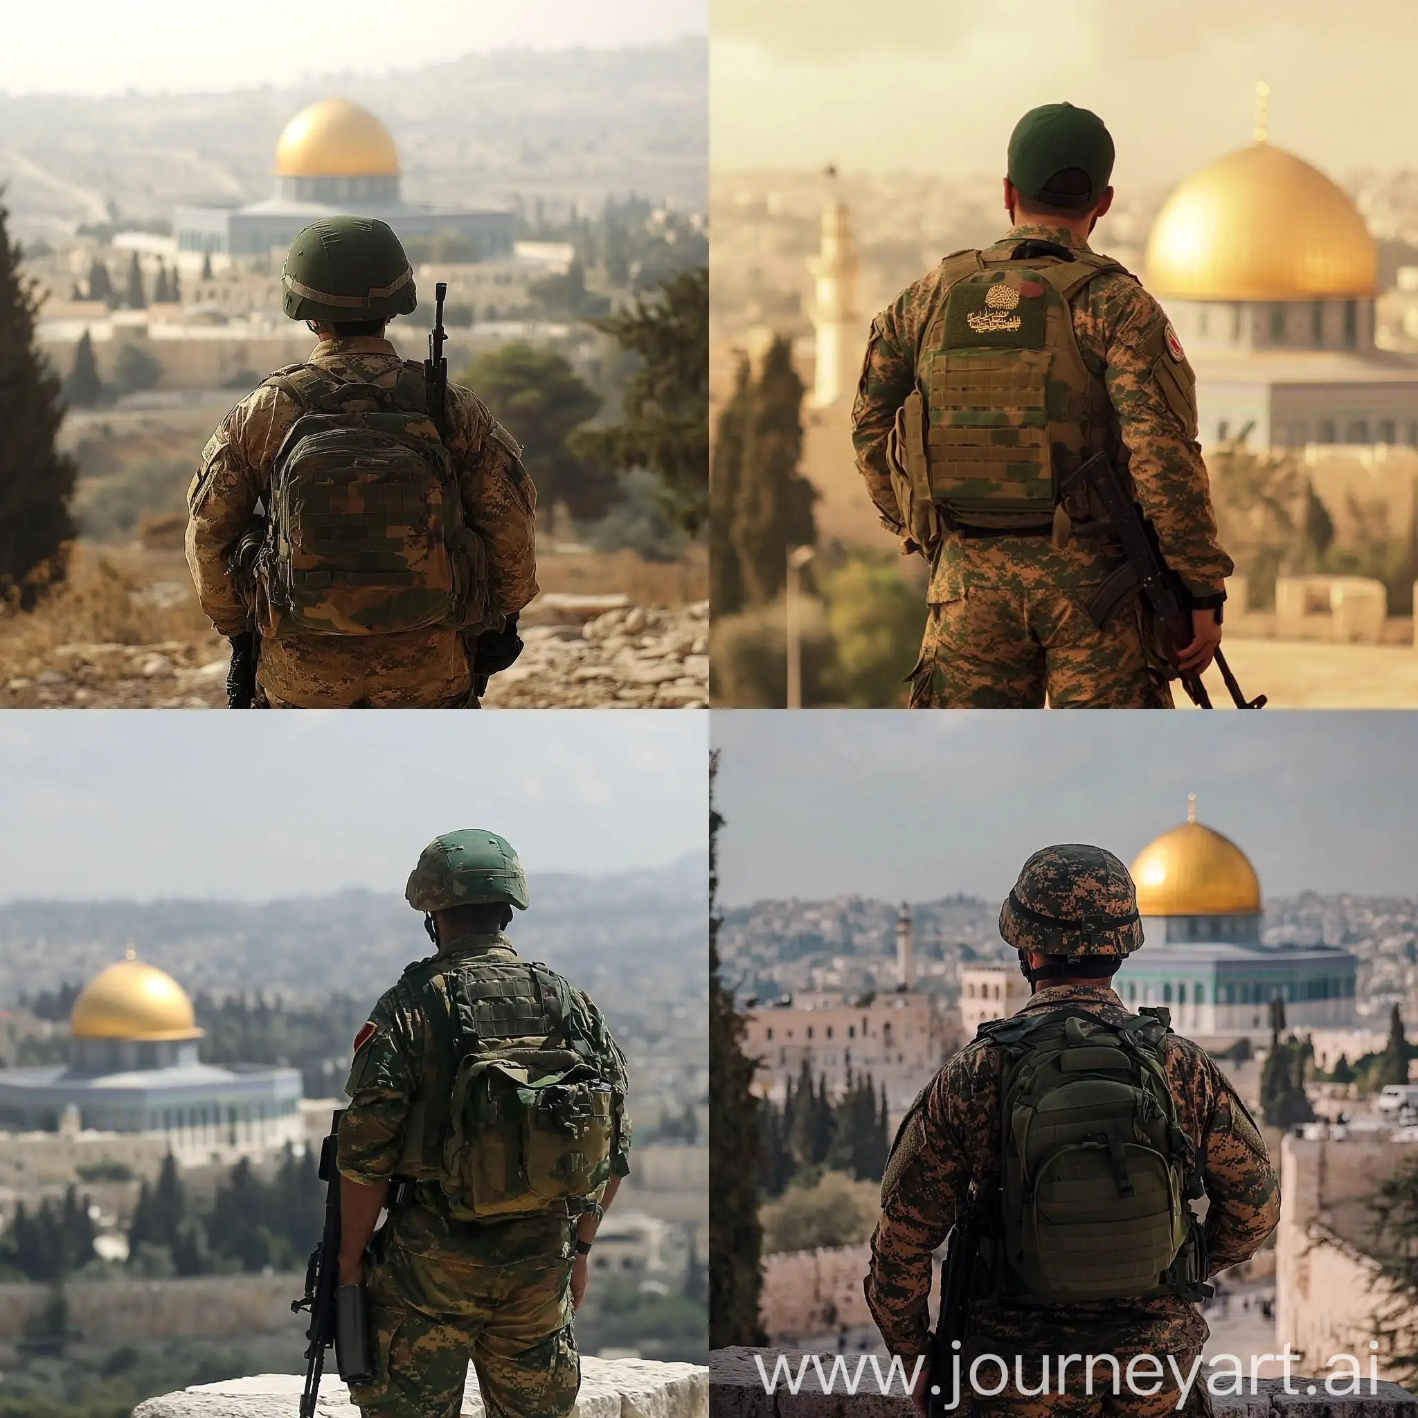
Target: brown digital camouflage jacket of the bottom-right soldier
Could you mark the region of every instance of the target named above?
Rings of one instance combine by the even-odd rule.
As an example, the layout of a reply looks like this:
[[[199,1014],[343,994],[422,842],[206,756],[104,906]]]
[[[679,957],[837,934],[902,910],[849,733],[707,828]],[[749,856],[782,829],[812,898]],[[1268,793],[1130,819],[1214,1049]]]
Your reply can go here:
[[[1130,1018],[1103,986],[1046,986],[1020,1012],[1038,1014],[1066,1003],[1085,1005],[1105,1020]],[[1181,1129],[1202,1159],[1214,1275],[1246,1259],[1275,1229],[1280,1184],[1254,1119],[1207,1054],[1168,1034],[1164,1066]],[[984,1041],[968,1044],[926,1085],[919,1112],[896,1139],[866,1278],[868,1307],[893,1354],[925,1353],[930,1256],[944,1242],[968,1184],[998,1185],[1000,1076],[1000,1052]],[[1207,1337],[1195,1306],[1171,1296],[1069,1306],[988,1300],[971,1309],[976,1329],[1005,1341],[1046,1336],[1051,1344],[1088,1343],[1102,1334],[1116,1353],[1149,1346],[1193,1351]]]

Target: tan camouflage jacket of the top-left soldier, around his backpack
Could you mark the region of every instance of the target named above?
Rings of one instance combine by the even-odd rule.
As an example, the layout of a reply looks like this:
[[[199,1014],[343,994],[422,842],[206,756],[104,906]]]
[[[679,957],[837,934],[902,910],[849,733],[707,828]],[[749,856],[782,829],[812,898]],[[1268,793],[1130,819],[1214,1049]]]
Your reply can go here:
[[[391,387],[404,362],[389,340],[359,336],[320,340],[306,363],[343,380]],[[537,591],[536,489],[516,441],[476,394],[450,384],[447,413],[464,518],[486,546],[492,603],[510,615]],[[187,564],[201,608],[223,635],[247,628],[247,607],[228,559],[258,499],[268,495],[275,455],[299,414],[291,396],[274,386],[248,394],[208,440],[187,489]]]

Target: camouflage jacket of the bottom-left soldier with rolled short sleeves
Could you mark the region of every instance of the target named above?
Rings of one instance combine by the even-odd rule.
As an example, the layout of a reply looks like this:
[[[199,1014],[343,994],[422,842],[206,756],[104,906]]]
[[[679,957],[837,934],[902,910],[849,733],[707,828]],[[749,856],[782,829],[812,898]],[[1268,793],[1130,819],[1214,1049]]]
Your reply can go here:
[[[506,961],[518,953],[499,933],[450,942],[438,954],[447,956],[448,963],[431,983],[447,997],[450,976],[474,966],[479,957]],[[625,1055],[591,1000],[574,986],[571,994],[586,1010],[591,1044],[607,1081],[625,1093]],[[411,1106],[435,1086],[440,1086],[438,1062],[425,1011],[410,1007],[408,995],[397,987],[387,990],[360,1029],[345,1085],[350,1103],[340,1120],[340,1173],[366,1184],[389,1181],[398,1170]],[[452,1081],[442,1086],[451,1088]],[[630,1141],[631,1123],[625,1117],[611,1159],[618,1177],[630,1173]],[[393,1225],[393,1239],[415,1255],[464,1255],[488,1263],[556,1254],[569,1235],[570,1224],[554,1215],[488,1222],[455,1219],[435,1180],[414,1187],[413,1202],[400,1210]]]

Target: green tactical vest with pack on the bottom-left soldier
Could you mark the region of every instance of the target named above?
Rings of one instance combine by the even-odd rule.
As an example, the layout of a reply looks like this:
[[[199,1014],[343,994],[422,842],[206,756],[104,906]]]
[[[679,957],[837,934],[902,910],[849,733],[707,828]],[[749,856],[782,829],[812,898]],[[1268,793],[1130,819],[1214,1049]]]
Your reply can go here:
[[[441,988],[440,988],[441,983]],[[411,964],[400,1004],[425,1021],[425,1069],[398,1173],[461,1221],[576,1215],[610,1178],[624,1096],[567,983],[542,964]]]

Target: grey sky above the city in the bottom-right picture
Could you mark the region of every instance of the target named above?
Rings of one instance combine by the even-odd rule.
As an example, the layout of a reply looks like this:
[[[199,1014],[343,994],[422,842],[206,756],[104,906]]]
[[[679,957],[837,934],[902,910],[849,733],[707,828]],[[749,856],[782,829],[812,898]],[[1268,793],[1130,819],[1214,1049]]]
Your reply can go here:
[[[1187,817],[1268,896],[1418,898],[1418,715],[715,713],[719,899],[1003,900],[1025,858],[1130,862]]]

